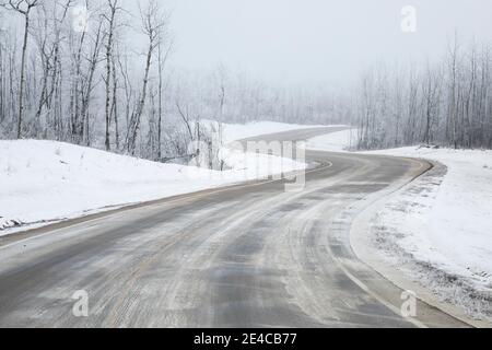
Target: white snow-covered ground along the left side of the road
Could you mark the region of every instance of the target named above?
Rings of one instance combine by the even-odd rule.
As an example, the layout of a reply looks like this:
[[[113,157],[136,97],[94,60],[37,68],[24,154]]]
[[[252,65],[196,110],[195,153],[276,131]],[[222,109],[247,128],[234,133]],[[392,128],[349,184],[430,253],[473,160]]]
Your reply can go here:
[[[234,141],[296,128],[277,122],[257,122],[251,127],[226,125],[225,137]],[[235,150],[223,150],[223,158],[229,170],[215,172],[55,141],[0,141],[0,235],[26,225],[43,225],[306,167],[289,159]]]

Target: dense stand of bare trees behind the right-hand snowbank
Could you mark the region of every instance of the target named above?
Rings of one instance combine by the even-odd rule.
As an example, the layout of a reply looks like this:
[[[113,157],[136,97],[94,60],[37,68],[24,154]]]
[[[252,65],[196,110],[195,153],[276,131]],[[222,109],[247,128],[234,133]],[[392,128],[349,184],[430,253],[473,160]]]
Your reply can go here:
[[[485,44],[447,45],[419,67],[377,67],[356,90],[359,148],[412,144],[492,148],[491,55]]]

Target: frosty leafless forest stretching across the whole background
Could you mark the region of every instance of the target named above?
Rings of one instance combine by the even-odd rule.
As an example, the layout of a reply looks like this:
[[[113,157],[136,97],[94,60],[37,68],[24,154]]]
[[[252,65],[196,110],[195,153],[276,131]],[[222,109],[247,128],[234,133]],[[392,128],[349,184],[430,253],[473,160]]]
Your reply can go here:
[[[138,13],[118,0],[80,4],[0,0],[1,138],[168,161],[211,138],[202,119],[273,120],[350,124],[360,149],[492,148],[488,43],[456,35],[441,59],[375,66],[340,92],[279,88],[221,65],[200,72],[168,65],[175,33],[161,1],[142,2]]]

